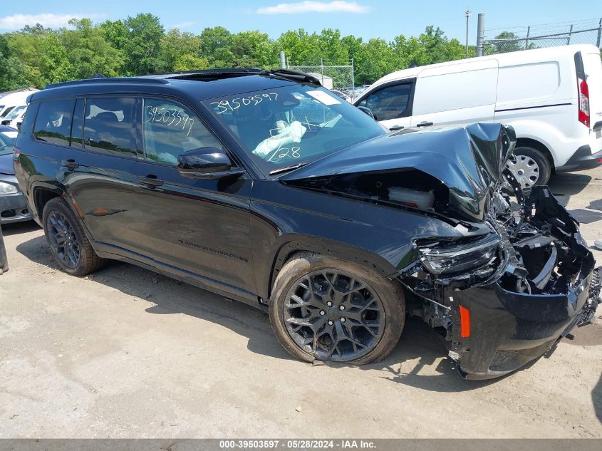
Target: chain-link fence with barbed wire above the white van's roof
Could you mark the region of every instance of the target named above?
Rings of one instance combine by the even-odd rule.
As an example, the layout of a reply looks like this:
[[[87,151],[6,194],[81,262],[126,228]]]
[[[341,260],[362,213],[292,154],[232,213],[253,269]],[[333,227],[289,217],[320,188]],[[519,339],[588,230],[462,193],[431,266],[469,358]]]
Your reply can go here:
[[[511,27],[502,32],[498,30],[497,35],[495,30],[486,29],[485,36],[485,55],[569,44],[587,43],[600,48],[602,19],[581,21],[576,24]]]

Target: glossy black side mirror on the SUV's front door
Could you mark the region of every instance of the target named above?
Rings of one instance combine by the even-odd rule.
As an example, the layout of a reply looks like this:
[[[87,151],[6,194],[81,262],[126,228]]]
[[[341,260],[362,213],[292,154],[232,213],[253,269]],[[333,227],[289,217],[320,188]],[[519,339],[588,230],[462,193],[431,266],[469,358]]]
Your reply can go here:
[[[242,170],[232,170],[232,162],[217,147],[199,147],[177,157],[177,170],[182,177],[191,179],[219,179],[239,177]]]

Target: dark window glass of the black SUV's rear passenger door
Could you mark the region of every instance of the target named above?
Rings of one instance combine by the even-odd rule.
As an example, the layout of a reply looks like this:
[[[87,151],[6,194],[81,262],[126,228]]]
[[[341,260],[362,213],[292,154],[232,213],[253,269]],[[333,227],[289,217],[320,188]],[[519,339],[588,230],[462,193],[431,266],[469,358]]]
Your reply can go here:
[[[134,105],[133,98],[86,99],[84,147],[121,155],[136,155]],[[77,145],[76,140],[73,145]]]

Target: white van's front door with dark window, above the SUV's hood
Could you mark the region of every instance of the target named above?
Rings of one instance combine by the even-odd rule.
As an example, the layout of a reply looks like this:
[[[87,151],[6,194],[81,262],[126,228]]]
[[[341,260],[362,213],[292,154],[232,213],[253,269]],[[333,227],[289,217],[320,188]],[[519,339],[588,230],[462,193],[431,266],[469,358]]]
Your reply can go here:
[[[395,81],[378,86],[357,106],[370,108],[378,122],[386,128],[410,127],[415,79]]]

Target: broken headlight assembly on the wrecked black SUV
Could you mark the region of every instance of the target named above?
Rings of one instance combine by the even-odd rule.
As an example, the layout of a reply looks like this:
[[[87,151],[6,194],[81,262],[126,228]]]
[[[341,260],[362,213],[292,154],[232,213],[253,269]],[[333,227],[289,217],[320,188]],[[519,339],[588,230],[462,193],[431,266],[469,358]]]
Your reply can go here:
[[[419,240],[416,244],[422,266],[435,276],[447,276],[491,264],[499,241],[497,234],[489,234],[469,242]]]

